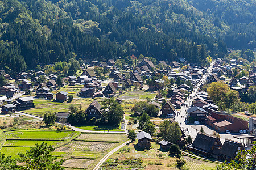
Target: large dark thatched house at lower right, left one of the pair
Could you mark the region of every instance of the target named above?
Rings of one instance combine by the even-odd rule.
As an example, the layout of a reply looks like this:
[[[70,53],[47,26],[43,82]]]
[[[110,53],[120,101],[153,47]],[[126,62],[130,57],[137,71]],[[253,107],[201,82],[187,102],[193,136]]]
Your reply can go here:
[[[213,156],[213,158],[220,158],[218,152],[222,147],[220,138],[214,137],[210,134],[197,133],[195,140],[188,146],[188,150],[201,154],[204,156]]]

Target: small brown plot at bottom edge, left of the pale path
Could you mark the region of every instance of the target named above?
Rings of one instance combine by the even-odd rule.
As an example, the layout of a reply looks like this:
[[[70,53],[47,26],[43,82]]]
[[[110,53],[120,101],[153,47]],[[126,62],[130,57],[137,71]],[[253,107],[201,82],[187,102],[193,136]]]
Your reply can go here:
[[[69,159],[63,163],[63,167],[68,168],[88,168],[93,160],[88,159]]]

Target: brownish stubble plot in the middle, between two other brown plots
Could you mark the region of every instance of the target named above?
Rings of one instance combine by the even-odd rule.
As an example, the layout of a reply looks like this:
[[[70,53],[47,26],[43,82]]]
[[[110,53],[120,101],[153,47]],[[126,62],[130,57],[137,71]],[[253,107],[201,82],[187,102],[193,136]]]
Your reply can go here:
[[[109,148],[115,146],[115,143],[106,142],[81,142],[73,141],[68,147],[73,147],[76,151],[105,152]]]

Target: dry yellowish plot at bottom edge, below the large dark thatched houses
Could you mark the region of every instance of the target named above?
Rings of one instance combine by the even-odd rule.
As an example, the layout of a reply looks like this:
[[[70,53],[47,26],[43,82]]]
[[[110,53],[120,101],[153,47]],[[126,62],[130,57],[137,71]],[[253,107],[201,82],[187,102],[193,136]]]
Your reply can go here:
[[[183,159],[186,161],[186,164],[184,165],[185,168],[189,169],[195,169],[195,170],[200,170],[200,169],[205,169],[205,170],[211,170],[216,167],[216,163],[212,162],[205,162],[203,160],[199,159],[193,159],[189,156],[183,156]]]

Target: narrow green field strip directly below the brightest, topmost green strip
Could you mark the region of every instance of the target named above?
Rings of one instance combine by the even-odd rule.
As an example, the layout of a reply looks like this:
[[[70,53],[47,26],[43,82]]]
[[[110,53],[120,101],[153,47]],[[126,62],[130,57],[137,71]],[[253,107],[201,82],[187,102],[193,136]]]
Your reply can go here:
[[[60,143],[61,141],[26,141],[26,140],[7,140],[3,146],[23,146],[23,147],[31,147],[35,146],[36,143],[42,143],[45,142],[47,145],[54,146],[57,143]]]

